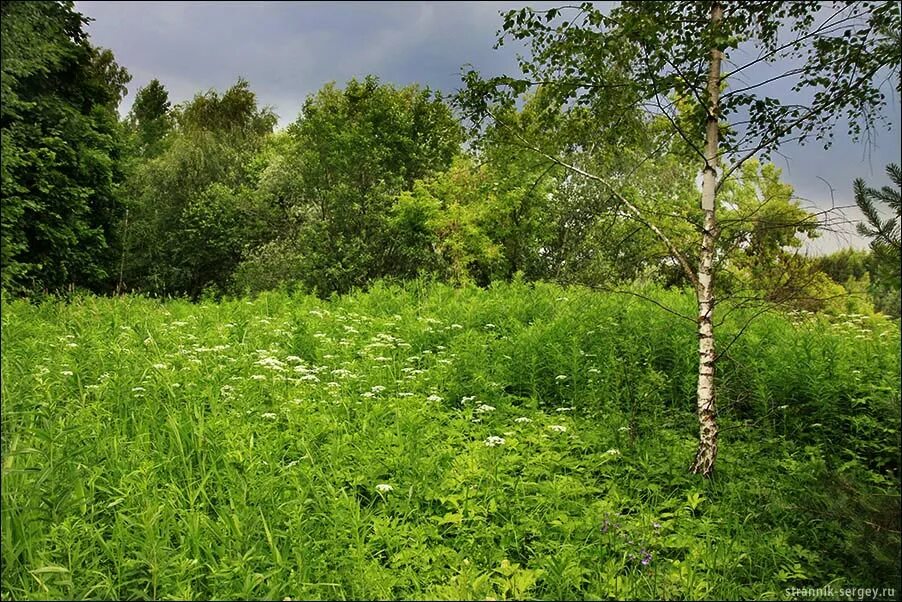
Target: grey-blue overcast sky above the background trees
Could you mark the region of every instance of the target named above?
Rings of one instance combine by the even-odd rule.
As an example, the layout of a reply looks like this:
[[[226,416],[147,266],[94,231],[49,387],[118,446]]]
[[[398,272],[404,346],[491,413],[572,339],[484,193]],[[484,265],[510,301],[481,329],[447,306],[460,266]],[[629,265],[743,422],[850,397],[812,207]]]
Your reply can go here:
[[[460,85],[472,64],[487,75],[512,73],[515,48],[493,50],[499,11],[560,3],[523,2],[76,2],[94,21],[94,44],[110,48],[132,74],[125,113],[135,91],[159,79],[178,103],[195,93],[225,90],[246,78],[279,124],[293,121],[308,94],[323,84],[375,74],[394,84],[420,83],[444,92]],[[887,85],[887,89],[892,86]],[[837,131],[833,148],[790,145],[774,156],[803,204],[854,204],[852,181],[885,185],[888,163],[902,163],[900,102],[888,93],[892,128],[868,146]],[[828,186],[820,178],[829,182]],[[847,215],[857,219],[857,211]],[[853,229],[825,234],[813,251],[865,246]]]

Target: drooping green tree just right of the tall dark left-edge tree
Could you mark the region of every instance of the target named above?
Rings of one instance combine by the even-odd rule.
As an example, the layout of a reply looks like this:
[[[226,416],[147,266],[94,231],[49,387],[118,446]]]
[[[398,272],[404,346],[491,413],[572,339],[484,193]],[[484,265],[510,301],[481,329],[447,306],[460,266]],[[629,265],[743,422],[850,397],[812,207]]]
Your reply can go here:
[[[239,80],[222,96],[209,91],[176,107],[174,119],[165,148],[131,175],[125,287],[221,293],[250,248],[270,238],[271,210],[253,191],[276,118]]]

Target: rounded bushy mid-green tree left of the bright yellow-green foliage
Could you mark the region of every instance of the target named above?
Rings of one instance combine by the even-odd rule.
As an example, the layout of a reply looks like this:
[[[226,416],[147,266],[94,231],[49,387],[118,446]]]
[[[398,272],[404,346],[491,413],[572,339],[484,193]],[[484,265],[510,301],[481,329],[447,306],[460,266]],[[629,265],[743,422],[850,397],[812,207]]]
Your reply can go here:
[[[416,260],[421,226],[395,205],[459,152],[460,127],[440,96],[375,77],[329,84],[307,99],[288,136],[285,173],[267,194],[286,218],[274,228],[300,257],[303,286],[325,295],[428,268]]]

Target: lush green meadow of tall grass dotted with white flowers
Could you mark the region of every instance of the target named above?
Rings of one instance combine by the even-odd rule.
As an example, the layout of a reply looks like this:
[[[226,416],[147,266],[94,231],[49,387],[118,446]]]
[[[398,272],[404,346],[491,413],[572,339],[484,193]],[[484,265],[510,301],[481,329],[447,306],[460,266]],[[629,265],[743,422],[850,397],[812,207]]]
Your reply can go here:
[[[706,481],[687,473],[693,325],[633,297],[2,310],[4,599],[899,587],[898,322],[755,321],[720,364]]]

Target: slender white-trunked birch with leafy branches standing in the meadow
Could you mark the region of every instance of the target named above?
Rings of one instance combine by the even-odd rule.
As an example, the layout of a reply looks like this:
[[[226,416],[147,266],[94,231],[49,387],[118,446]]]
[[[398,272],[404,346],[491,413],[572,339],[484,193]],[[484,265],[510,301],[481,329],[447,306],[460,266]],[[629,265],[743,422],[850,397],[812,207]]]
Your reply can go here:
[[[886,89],[895,83],[902,93],[899,31],[896,2],[625,2],[607,14],[591,3],[524,8],[507,12],[499,32],[499,45],[527,44],[521,73],[464,76],[459,100],[476,124],[497,123],[496,107],[541,87],[565,111],[589,108],[606,127],[637,108],[649,120],[663,117],[669,138],[695,157],[701,194],[693,259],[673,244],[659,211],[630,193],[629,172],[590,171],[519,134],[523,146],[607,190],[616,210],[651,230],[691,282],[699,360],[694,473],[709,476],[717,457],[719,192],[748,160],[766,159],[781,144],[829,146],[842,123],[853,139],[869,136]]]

